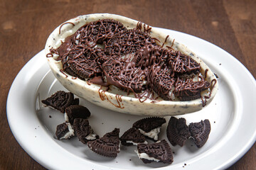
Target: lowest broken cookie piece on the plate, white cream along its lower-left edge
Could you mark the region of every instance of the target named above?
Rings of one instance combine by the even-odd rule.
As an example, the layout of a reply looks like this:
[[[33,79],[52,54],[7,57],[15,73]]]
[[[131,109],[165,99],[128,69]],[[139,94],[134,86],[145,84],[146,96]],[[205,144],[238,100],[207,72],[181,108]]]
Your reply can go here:
[[[171,147],[166,140],[161,140],[152,144],[138,144],[137,154],[139,159],[145,164],[155,162],[163,162],[171,164],[174,162],[174,157],[171,152]]]

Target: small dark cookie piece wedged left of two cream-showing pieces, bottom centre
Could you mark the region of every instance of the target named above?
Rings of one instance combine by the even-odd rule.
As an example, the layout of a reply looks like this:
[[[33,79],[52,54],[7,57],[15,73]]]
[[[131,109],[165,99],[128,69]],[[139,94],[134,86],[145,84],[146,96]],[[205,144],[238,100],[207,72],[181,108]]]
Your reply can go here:
[[[122,145],[131,146],[138,145],[139,143],[147,143],[146,138],[136,128],[130,128],[120,137]]]

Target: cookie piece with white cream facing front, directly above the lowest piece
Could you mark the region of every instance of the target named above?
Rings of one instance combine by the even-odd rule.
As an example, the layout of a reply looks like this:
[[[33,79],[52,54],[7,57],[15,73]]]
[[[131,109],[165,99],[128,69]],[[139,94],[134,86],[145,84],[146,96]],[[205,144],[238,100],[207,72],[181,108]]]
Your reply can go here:
[[[164,123],[166,123],[165,118],[151,117],[138,120],[132,125],[132,127],[137,128],[142,135],[157,141],[161,125]]]

